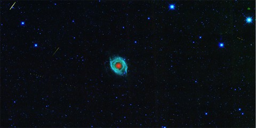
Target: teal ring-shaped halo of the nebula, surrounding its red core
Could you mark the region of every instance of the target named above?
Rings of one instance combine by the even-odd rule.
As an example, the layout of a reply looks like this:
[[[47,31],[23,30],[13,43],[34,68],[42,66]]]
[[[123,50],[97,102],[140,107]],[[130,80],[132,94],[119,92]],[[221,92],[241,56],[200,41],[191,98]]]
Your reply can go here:
[[[119,69],[116,67],[116,64],[122,65]],[[125,59],[122,57],[110,58],[110,67],[118,75],[125,75],[127,73],[127,65]]]

